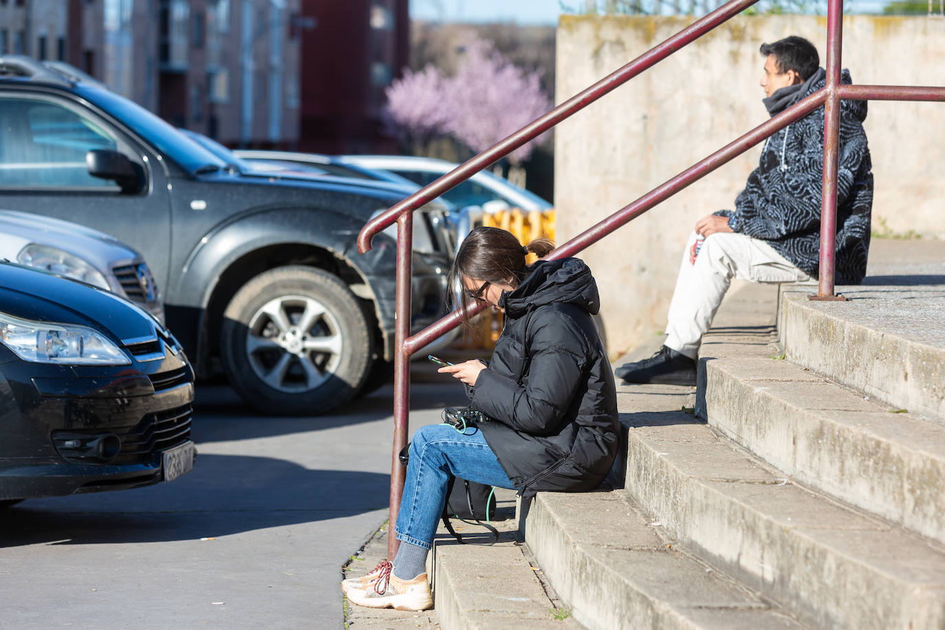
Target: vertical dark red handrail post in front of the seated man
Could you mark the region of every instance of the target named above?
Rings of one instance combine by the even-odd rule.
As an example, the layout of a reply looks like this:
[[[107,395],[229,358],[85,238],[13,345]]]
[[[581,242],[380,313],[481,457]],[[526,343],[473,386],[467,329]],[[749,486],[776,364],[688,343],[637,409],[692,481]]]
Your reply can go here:
[[[845,300],[833,295],[836,258],[836,180],[840,152],[840,66],[843,0],[827,8],[827,99],[824,102],[824,160],[820,198],[820,268],[817,295],[811,299]]]

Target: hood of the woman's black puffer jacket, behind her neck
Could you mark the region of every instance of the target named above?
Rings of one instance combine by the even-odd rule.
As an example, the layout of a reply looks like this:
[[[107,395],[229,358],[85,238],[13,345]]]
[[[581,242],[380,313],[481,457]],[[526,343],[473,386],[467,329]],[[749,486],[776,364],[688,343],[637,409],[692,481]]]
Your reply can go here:
[[[524,315],[528,309],[552,302],[574,304],[591,315],[597,315],[600,310],[597,282],[584,261],[577,258],[540,260],[532,265],[531,273],[517,289],[499,298],[499,306],[511,317]]]

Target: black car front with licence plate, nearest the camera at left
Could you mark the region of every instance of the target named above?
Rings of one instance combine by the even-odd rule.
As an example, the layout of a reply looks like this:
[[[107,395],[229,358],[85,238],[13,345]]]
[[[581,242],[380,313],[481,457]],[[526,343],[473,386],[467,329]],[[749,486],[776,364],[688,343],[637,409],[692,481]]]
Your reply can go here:
[[[194,464],[194,373],[151,315],[0,263],[0,506],[172,481]]]

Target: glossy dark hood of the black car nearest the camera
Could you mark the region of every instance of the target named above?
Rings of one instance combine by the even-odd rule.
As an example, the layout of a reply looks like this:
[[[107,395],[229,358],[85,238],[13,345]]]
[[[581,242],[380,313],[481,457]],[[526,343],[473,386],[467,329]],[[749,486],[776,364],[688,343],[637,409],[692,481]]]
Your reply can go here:
[[[117,341],[153,337],[160,328],[151,315],[109,291],[12,263],[0,263],[0,312],[90,326]]]

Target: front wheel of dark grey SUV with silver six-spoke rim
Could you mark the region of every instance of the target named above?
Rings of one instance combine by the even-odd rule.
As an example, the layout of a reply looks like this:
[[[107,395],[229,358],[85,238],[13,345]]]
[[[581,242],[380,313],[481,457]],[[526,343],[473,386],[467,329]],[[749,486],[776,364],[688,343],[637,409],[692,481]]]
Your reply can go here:
[[[230,382],[259,412],[323,414],[351,400],[371,367],[368,317],[344,282],[320,269],[271,269],[236,292],[220,354]]]

